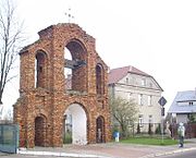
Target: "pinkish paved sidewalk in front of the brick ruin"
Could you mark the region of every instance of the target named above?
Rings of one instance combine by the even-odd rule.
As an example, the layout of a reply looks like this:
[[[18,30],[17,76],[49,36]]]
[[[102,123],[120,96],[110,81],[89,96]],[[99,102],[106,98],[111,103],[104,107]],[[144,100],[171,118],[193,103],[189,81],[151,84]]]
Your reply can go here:
[[[90,144],[85,146],[64,145],[57,147],[35,147],[22,149],[19,154],[50,155],[58,157],[83,158],[151,158],[174,153],[196,150],[196,139],[188,139],[183,148],[172,146],[147,146],[121,143]]]

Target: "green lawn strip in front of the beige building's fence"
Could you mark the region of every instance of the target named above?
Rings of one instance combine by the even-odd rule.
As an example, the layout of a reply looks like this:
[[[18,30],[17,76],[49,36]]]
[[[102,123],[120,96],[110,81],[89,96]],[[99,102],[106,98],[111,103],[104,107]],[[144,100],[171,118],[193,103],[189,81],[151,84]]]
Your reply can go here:
[[[177,139],[171,138],[156,138],[156,137],[131,137],[127,139],[121,139],[120,143],[128,143],[128,144],[142,144],[142,145],[176,145]]]

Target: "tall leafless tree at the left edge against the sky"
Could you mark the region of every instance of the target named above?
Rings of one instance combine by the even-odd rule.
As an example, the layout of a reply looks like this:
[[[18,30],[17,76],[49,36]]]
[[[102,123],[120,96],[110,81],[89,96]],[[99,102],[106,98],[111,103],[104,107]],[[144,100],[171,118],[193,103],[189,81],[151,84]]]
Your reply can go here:
[[[16,19],[16,10],[10,0],[0,2],[0,104],[4,87],[14,74],[11,70],[14,68],[16,54],[22,46],[22,23]]]

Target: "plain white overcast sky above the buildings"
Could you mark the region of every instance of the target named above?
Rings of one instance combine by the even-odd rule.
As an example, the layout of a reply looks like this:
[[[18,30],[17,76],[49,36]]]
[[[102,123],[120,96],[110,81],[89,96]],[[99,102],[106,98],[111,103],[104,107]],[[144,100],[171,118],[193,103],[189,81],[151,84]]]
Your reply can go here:
[[[110,69],[133,65],[156,78],[169,108],[177,92],[196,87],[195,0],[13,0],[27,44],[37,32],[68,23],[69,9],[96,39],[96,50]],[[4,104],[19,97],[19,78],[7,88]]]

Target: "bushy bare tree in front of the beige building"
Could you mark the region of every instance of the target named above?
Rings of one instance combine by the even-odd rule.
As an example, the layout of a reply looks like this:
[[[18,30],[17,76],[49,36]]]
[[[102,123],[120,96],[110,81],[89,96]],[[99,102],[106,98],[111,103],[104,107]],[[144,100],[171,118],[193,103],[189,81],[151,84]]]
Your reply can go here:
[[[126,100],[122,97],[111,98],[110,108],[113,117],[113,124],[117,122],[122,132],[122,136],[125,137],[127,134],[127,126],[136,121],[138,113],[137,105],[134,100]]]

